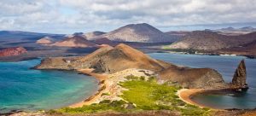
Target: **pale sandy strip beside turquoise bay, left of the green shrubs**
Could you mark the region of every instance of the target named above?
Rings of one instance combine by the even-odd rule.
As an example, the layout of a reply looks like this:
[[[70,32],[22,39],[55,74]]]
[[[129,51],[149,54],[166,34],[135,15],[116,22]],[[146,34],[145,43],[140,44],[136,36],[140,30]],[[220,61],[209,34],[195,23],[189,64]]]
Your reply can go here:
[[[117,73],[113,74],[99,74],[99,73],[92,73],[93,69],[79,69],[79,73],[88,74],[91,77],[97,78],[99,82],[99,90],[93,96],[90,96],[86,100],[78,103],[74,103],[69,107],[83,107],[84,105],[90,105],[92,103],[98,103],[103,100],[110,100],[110,101],[119,101],[123,100],[119,97],[122,94],[122,90],[125,90],[119,85],[119,82],[125,81],[126,76],[134,75],[137,77],[146,77],[148,78],[149,75],[153,75],[154,72],[143,70],[143,69],[126,69]],[[108,96],[102,96],[103,93],[108,93]]]

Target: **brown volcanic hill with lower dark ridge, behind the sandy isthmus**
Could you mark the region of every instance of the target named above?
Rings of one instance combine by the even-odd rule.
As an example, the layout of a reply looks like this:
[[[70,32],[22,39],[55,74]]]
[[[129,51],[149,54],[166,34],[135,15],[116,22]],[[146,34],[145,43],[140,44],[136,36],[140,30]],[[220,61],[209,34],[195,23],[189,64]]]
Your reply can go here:
[[[79,57],[46,58],[36,69],[76,70],[94,68],[95,73],[116,73],[128,68],[147,69],[159,76],[159,83],[176,82],[187,88],[224,89],[230,88],[222,76],[210,68],[178,67],[165,61],[155,60],[128,45],[114,48],[104,46],[90,55]]]

